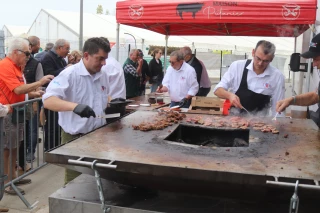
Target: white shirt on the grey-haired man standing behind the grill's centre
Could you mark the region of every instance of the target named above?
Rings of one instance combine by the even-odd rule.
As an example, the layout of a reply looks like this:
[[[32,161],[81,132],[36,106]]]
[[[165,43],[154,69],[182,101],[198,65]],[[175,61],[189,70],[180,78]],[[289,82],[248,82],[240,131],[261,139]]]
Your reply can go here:
[[[196,71],[183,62],[179,70],[172,66],[167,68],[162,85],[168,88],[171,101],[181,101],[187,95],[195,96],[199,90]]]

